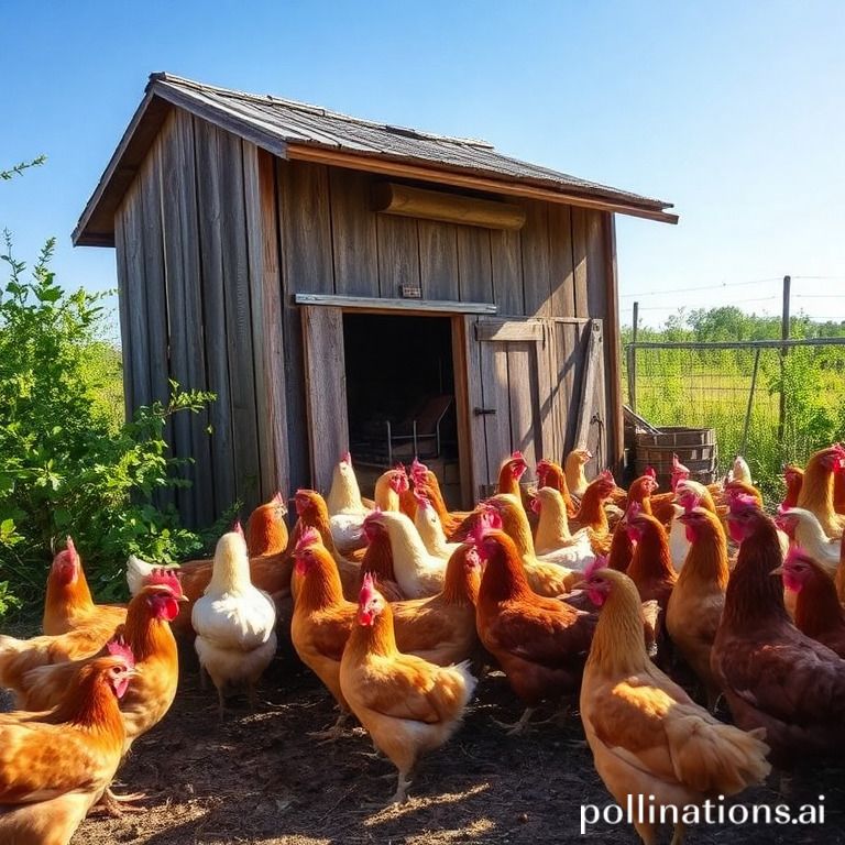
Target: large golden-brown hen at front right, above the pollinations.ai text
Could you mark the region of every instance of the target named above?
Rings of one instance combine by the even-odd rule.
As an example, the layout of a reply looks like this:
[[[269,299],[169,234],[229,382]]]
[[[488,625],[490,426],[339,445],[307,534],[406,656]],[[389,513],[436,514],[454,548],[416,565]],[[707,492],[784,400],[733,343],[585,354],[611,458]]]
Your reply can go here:
[[[581,687],[581,721],[596,771],[619,805],[648,797],[657,808],[734,795],[769,772],[765,731],[724,725],[695,704],[648,658],[640,604],[627,575],[599,569],[586,579],[603,605]],[[634,826],[645,845],[657,830],[647,814]],[[683,839],[676,824],[672,843]]]

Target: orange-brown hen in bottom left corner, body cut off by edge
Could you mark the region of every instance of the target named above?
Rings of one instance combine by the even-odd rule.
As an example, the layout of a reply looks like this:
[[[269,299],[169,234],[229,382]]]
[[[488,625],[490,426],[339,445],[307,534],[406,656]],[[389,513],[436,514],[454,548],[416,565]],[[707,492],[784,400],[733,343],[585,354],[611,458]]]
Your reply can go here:
[[[75,667],[51,713],[0,723],[0,841],[67,845],[123,756],[118,701],[134,673],[128,649]]]

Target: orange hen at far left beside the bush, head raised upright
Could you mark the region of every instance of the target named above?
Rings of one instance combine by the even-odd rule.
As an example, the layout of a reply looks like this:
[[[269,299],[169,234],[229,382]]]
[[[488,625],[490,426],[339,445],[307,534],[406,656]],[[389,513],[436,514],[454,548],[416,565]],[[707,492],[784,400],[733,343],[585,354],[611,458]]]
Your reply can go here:
[[[95,604],[74,541],[53,558],[47,575],[42,630],[47,636],[75,628],[98,628],[106,636],[127,618],[124,605]]]

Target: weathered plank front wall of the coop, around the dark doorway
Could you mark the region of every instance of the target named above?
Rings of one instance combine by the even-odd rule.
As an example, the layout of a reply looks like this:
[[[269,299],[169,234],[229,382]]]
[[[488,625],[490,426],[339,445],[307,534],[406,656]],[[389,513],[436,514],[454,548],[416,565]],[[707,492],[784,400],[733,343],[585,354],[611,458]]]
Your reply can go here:
[[[468,319],[463,359],[478,371],[468,373],[470,431],[479,451],[473,486],[492,483],[502,456],[513,449],[523,449],[534,464],[542,456],[561,459],[573,447],[588,320],[600,320],[600,332],[616,320],[607,296],[608,213],[509,197],[525,208],[526,223],[517,232],[495,231],[375,213],[376,176],[284,161],[276,174],[295,485],[328,483],[323,470],[310,475],[305,420],[312,397],[303,372],[301,319],[292,304],[297,293],[395,298],[400,285],[414,285],[424,299],[495,303],[501,317],[542,319],[540,343],[478,343],[473,327],[483,318]],[[614,463],[617,450],[608,418],[617,392],[604,378],[611,355],[605,343],[601,389],[589,399],[586,440],[597,456],[592,471]],[[496,414],[473,416],[476,406],[495,406]],[[326,445],[332,456],[343,448]],[[316,463],[327,464],[327,456]]]

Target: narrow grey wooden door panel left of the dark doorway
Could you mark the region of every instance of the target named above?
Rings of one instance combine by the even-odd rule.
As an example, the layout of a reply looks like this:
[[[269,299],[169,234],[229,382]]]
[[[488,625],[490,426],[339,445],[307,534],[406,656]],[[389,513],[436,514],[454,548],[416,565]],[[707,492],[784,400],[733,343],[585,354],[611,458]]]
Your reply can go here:
[[[301,311],[311,483],[326,495],[338,457],[349,448],[343,311],[323,305]]]

